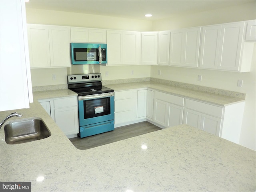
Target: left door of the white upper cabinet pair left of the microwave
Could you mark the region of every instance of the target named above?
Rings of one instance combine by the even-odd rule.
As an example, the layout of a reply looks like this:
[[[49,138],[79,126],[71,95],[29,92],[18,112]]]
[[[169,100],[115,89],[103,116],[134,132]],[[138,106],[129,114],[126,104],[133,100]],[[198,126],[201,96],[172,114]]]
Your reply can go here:
[[[28,24],[28,48],[31,68],[50,67],[48,26]]]

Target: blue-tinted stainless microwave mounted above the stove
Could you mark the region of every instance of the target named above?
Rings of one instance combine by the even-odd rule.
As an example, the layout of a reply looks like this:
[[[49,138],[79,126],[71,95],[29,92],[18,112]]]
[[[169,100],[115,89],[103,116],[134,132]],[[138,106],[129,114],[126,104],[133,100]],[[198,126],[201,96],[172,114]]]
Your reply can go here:
[[[72,65],[107,64],[107,44],[70,43]]]

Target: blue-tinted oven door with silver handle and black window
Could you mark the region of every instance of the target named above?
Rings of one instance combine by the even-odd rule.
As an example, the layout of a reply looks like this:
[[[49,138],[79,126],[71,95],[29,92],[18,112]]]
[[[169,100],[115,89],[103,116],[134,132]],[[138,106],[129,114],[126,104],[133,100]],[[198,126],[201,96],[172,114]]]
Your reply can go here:
[[[114,120],[114,92],[78,97],[79,126]]]

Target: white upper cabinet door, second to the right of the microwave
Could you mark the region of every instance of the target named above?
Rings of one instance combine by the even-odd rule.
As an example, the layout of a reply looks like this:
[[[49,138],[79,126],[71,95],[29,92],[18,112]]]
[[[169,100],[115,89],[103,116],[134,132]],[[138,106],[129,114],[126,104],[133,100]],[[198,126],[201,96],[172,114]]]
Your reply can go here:
[[[140,64],[140,32],[123,32],[123,64]]]

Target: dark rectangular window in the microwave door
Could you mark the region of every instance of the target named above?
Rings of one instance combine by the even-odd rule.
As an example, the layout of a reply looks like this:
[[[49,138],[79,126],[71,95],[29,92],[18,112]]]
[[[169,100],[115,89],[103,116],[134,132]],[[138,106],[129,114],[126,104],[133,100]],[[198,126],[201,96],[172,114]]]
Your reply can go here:
[[[75,61],[98,61],[98,48],[74,48]]]

